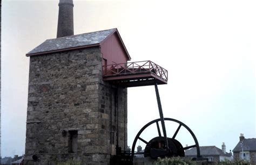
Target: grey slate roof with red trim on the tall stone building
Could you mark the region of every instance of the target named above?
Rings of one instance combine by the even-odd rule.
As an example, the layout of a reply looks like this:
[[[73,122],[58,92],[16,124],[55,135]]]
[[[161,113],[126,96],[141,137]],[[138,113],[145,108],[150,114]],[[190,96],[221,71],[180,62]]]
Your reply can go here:
[[[100,46],[110,35],[117,33],[124,51],[126,52],[127,59],[131,59],[127,49],[124,45],[122,38],[117,28],[111,28],[109,30],[90,32],[78,35],[71,35],[66,37],[60,37],[55,39],[45,40],[41,45],[32,49],[26,56],[47,54],[53,52],[62,52],[70,49],[78,49],[92,46]]]

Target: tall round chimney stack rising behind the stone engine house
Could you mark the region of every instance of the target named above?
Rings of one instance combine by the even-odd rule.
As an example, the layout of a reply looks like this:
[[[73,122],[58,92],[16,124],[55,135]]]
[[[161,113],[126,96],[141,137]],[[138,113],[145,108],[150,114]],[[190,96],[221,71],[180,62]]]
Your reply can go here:
[[[73,0],[59,0],[57,38],[74,35]]]

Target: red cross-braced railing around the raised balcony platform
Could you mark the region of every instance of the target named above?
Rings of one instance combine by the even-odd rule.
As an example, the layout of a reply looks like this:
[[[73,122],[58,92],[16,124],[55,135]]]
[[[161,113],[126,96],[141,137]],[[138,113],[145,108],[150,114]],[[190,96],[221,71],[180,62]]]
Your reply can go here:
[[[117,63],[103,66],[103,76],[123,76],[151,73],[167,81],[168,71],[152,61]]]

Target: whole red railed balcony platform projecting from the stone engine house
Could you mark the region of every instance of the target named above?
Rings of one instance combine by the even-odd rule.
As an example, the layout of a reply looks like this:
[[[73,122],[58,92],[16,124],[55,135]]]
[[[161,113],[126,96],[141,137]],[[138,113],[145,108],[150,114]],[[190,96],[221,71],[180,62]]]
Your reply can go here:
[[[103,80],[121,87],[167,84],[168,71],[152,61],[117,63],[103,66]]]

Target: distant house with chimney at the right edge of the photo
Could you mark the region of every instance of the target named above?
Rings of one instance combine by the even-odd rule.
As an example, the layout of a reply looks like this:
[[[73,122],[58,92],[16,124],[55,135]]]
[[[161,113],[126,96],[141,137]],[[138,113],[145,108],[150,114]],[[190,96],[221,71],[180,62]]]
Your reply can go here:
[[[256,138],[245,139],[244,134],[241,133],[233,153],[234,160],[246,160],[256,164]]]

